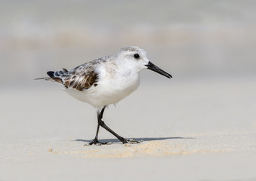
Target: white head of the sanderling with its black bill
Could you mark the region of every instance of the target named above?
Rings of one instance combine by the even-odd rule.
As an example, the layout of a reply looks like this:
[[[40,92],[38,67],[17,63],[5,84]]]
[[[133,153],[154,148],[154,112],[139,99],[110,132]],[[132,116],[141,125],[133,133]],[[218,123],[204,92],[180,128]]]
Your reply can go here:
[[[117,54],[117,60],[128,69],[140,72],[143,69],[151,69],[165,77],[171,78],[171,75],[155,66],[147,58],[147,52],[135,46],[121,48]]]

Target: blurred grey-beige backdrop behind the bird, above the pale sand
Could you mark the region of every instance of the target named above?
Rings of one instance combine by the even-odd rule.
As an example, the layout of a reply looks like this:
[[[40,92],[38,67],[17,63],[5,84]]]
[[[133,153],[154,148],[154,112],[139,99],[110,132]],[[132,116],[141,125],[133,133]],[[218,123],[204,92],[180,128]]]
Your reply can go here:
[[[2,86],[127,45],[145,49],[174,78],[256,74],[253,0],[2,0],[0,27]]]

